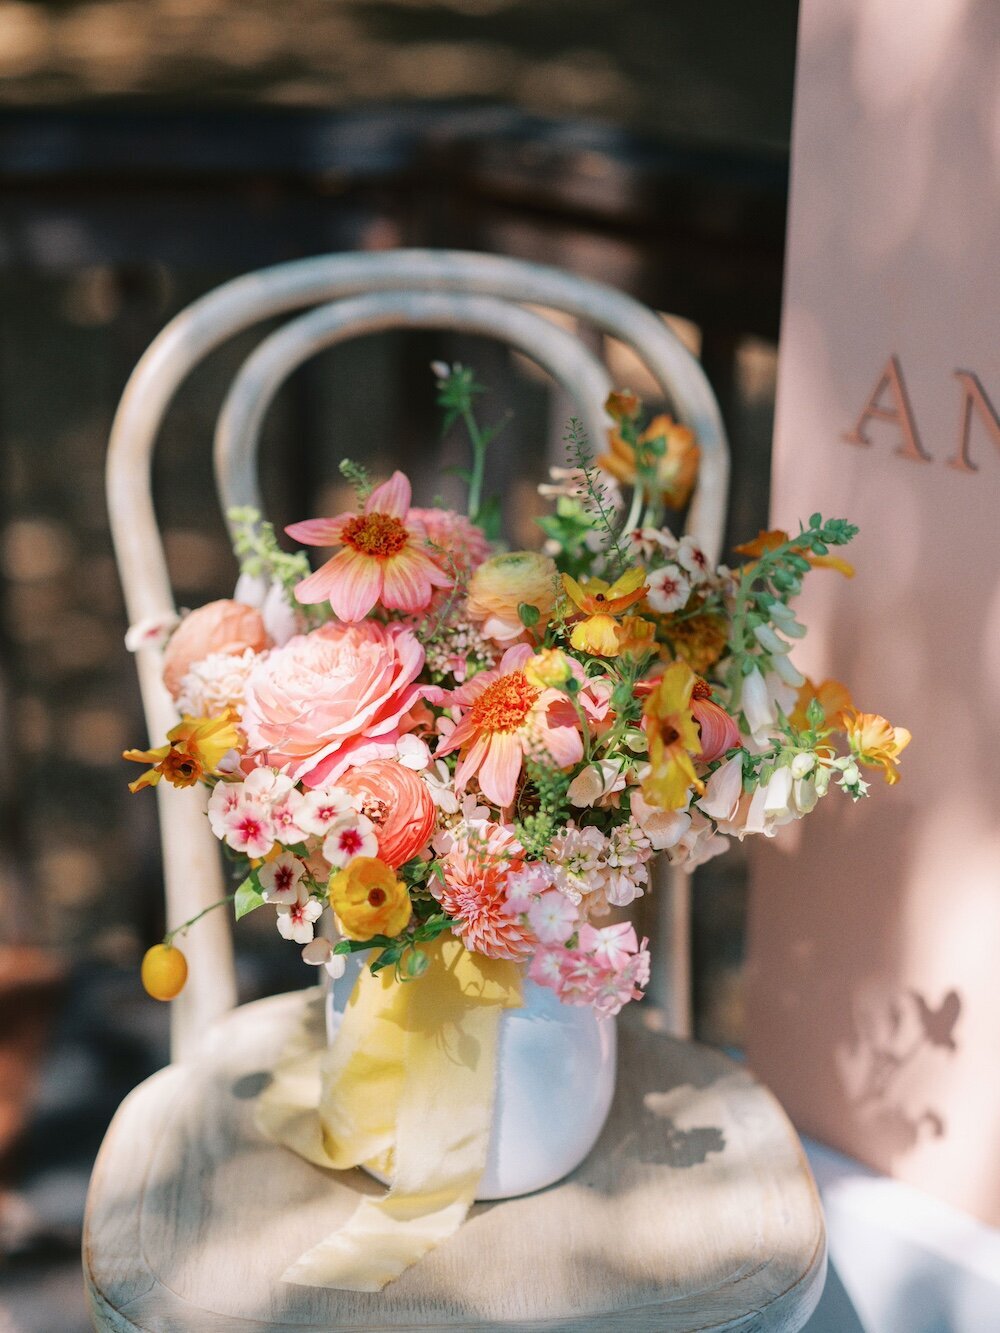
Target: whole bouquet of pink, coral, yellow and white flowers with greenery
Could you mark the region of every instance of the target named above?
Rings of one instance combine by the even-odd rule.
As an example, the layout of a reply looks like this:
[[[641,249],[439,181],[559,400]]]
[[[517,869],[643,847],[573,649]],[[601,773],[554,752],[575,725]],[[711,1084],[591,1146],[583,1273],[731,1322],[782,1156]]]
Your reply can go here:
[[[371,950],[372,972],[411,981],[449,932],[613,1014],[643,994],[649,953],[608,914],[648,890],[655,853],[693,868],[832,786],[859,800],[863,768],[897,781],[909,733],[791,657],[803,579],[851,576],[833,551],[856,529],[815,513],[716,567],[667,527],[696,480],[691,431],[643,424],[615,393],[607,452],[572,423],[569,465],[541,488],[544,548],[503,551],[481,388],[436,373],[472,441],[468,515],[415,508],[401,472],[372,485],[345,463],[356,505],[287,529],[335,552],[315,572],[259,515],[233,515],[233,600],[129,632],[163,647],[181,716],[161,746],[125,752],[145,765],[131,786],[211,788],[237,881],[225,901],[237,918],[269,905],[333,976]],[[161,998],[184,984],[173,936],[191,924],[144,960]]]

